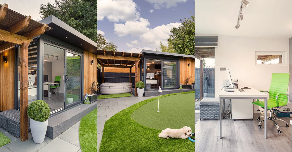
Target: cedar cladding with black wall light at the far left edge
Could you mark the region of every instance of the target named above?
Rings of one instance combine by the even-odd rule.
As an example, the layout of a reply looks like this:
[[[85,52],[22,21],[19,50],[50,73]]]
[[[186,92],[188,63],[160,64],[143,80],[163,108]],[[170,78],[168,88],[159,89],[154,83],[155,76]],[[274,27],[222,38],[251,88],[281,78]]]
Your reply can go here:
[[[0,51],[0,57],[0,110],[5,111],[14,108],[14,47]]]

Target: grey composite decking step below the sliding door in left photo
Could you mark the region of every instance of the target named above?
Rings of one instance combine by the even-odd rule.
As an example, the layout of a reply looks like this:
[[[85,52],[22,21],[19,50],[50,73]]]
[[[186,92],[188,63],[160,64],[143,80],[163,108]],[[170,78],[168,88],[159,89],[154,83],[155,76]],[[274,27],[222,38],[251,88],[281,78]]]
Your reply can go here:
[[[58,137],[58,135],[72,127],[74,124],[80,121],[82,117],[87,115],[95,108],[97,108],[97,102],[91,103],[89,105],[81,103],[77,106],[53,115],[48,120],[46,136],[51,139]]]

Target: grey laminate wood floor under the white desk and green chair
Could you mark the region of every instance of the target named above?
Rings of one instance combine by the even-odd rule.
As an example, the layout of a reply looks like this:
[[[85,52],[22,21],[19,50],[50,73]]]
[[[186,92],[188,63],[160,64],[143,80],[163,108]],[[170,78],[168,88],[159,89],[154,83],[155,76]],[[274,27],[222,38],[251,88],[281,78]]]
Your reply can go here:
[[[258,128],[256,118],[263,114],[254,114],[253,120],[238,119],[236,121],[222,119],[222,139],[219,137],[219,120],[198,120],[195,125],[195,151],[291,151],[291,118],[280,118],[290,125],[286,127],[285,122],[276,121],[282,130],[277,132],[274,123],[268,121],[268,139],[264,136],[263,128]],[[262,120],[262,119],[261,119]]]

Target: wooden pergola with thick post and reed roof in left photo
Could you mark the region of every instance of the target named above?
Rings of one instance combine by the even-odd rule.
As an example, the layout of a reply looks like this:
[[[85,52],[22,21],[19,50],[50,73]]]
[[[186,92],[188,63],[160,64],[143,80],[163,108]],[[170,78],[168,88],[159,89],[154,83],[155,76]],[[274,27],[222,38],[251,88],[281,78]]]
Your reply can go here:
[[[47,24],[0,4],[0,51],[20,45],[20,140],[28,139],[28,46],[32,38],[51,30]]]

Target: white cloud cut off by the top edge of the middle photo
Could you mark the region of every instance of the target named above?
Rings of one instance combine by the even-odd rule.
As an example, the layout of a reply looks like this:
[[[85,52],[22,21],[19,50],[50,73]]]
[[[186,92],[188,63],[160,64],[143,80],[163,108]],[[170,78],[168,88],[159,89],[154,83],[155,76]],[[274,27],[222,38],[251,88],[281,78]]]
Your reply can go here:
[[[146,0],[149,3],[154,4],[155,9],[160,9],[163,7],[170,8],[177,6],[178,3],[185,3],[187,0]]]

